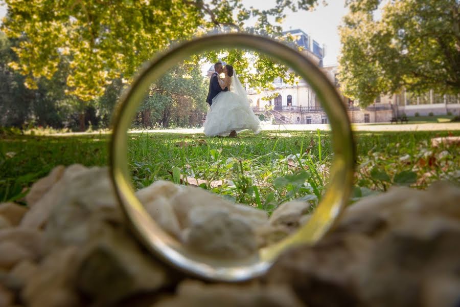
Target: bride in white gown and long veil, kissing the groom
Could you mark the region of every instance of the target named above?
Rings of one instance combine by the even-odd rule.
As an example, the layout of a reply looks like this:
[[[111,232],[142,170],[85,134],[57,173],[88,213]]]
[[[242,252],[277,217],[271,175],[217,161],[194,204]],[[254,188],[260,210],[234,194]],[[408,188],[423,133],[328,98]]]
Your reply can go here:
[[[212,100],[211,107],[204,121],[204,135],[209,137],[236,137],[236,131],[250,129],[258,134],[261,130],[260,120],[252,112],[246,91],[243,89],[232,65],[225,65],[225,77],[219,80],[222,90]]]

